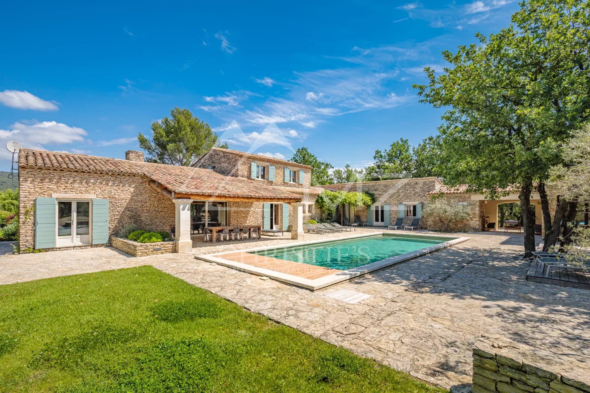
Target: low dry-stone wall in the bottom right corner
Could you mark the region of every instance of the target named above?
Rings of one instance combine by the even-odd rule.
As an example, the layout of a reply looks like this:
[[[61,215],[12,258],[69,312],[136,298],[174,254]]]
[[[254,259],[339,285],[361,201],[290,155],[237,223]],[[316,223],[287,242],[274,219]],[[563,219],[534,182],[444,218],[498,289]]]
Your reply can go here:
[[[588,366],[515,342],[477,342],[473,393],[590,393]]]

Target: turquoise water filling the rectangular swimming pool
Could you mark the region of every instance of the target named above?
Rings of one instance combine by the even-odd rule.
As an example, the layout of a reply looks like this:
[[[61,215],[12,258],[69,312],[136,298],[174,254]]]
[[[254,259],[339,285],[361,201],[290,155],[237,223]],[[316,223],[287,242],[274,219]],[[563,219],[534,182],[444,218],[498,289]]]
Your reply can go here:
[[[376,235],[314,245],[252,251],[250,253],[329,267],[330,269],[348,270],[392,256],[438,245],[447,240]]]

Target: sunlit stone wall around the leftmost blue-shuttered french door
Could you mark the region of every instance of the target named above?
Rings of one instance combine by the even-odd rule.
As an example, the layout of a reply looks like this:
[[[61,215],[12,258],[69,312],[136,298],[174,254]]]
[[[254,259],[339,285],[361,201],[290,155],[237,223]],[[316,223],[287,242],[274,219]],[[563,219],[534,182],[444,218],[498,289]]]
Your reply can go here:
[[[166,230],[175,223],[171,199],[130,174],[81,173],[46,168],[19,168],[19,246],[35,247],[35,198],[61,194],[95,194],[109,199],[109,236],[129,223]],[[50,249],[45,249],[50,250]]]

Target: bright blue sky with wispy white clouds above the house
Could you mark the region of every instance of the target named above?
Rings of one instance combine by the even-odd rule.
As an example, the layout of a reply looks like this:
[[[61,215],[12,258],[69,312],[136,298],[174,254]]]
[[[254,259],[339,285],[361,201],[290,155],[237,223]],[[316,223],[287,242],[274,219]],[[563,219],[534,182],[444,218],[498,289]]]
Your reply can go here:
[[[435,134],[442,111],[418,103],[412,88],[426,81],[422,68],[442,70],[441,51],[498,31],[517,8],[507,0],[8,2],[0,170],[10,167],[8,140],[123,158],[173,106],[232,137],[237,150],[289,159],[306,146],[336,167],[363,167],[400,137],[418,144]]]

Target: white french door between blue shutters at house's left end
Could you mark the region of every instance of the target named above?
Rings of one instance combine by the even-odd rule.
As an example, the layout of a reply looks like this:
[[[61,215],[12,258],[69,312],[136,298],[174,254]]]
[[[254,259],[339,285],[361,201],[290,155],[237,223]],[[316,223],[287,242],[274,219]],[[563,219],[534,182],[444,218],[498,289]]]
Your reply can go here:
[[[90,201],[58,200],[57,246],[90,244]]]

